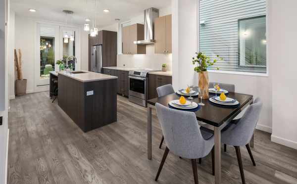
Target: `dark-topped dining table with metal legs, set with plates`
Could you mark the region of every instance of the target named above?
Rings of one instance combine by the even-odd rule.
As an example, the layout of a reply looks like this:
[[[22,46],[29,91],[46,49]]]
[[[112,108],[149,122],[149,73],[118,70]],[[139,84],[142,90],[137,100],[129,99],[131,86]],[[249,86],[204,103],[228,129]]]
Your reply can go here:
[[[215,94],[209,93],[209,97]],[[194,113],[196,114],[197,120],[201,122],[206,128],[213,130],[214,133],[214,152],[215,152],[215,184],[221,184],[221,130],[227,126],[231,120],[233,120],[238,114],[240,114],[248,105],[252,104],[253,96],[250,94],[243,94],[238,92],[229,92],[227,97],[237,99],[239,105],[237,107],[228,108],[220,107],[209,99],[202,99],[204,106],[199,106],[198,110]],[[180,95],[177,93],[171,93],[165,96],[156,97],[149,99],[148,103],[148,159],[152,158],[152,109],[155,108],[156,103],[160,103],[164,106],[169,107],[169,102],[171,100],[179,99]],[[194,96],[194,102],[199,103],[200,98]],[[165,140],[166,141],[166,140]],[[251,146],[253,146],[253,138],[251,140]]]

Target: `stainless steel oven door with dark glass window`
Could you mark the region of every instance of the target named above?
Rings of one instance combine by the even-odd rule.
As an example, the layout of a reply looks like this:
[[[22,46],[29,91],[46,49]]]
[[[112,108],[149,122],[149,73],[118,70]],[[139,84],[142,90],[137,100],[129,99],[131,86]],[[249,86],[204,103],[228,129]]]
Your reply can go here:
[[[147,79],[142,77],[129,76],[129,96],[146,99]]]

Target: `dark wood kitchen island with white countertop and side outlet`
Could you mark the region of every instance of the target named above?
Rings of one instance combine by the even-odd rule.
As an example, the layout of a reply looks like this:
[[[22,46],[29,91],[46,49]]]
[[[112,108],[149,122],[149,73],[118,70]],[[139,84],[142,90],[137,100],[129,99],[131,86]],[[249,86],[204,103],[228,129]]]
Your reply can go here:
[[[95,72],[58,73],[58,105],[84,131],[117,121],[117,77]]]

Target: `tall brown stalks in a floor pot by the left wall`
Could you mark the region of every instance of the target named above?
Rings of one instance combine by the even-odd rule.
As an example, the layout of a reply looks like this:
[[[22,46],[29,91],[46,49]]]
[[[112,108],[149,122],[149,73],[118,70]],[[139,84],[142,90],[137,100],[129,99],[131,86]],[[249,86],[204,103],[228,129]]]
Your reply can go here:
[[[15,95],[24,95],[27,90],[27,79],[23,79],[22,70],[22,52],[18,49],[19,57],[17,56],[16,49],[14,49],[14,64],[17,72],[17,80],[14,83]]]

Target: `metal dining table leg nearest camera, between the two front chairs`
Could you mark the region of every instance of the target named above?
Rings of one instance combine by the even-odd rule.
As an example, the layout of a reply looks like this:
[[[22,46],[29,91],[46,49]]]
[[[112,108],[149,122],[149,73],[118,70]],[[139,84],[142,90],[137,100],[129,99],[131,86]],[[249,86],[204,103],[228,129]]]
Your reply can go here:
[[[221,130],[214,127],[214,177],[215,184],[221,184]]]

